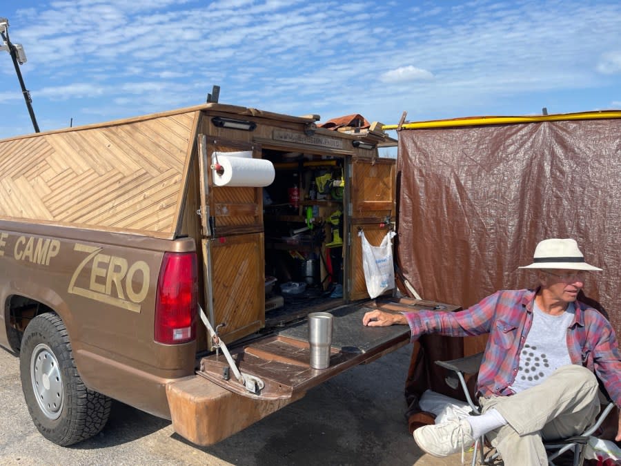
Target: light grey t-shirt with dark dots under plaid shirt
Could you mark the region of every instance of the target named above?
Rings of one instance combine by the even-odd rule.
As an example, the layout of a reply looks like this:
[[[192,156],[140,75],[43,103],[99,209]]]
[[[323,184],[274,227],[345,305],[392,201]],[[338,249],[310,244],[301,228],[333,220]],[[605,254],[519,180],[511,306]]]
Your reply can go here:
[[[560,315],[533,307],[533,325],[520,353],[520,366],[511,388],[518,393],[543,382],[561,366],[571,364],[567,350],[567,328],[573,322],[575,307],[569,303]]]

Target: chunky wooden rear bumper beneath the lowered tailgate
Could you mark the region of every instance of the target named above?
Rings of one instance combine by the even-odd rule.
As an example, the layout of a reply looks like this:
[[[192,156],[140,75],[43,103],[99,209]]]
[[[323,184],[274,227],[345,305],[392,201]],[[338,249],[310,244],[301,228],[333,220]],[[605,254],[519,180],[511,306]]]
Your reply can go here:
[[[168,384],[166,396],[175,432],[206,446],[245,429],[304,394],[286,400],[253,400],[193,376]]]

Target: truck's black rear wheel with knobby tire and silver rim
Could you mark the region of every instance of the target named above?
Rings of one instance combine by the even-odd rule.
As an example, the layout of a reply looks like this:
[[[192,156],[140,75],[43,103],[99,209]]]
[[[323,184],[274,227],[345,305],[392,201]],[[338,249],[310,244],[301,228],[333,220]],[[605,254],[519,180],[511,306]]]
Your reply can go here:
[[[48,440],[72,445],[106,425],[111,400],[83,384],[67,329],[55,313],[37,315],[26,327],[19,369],[30,417]]]

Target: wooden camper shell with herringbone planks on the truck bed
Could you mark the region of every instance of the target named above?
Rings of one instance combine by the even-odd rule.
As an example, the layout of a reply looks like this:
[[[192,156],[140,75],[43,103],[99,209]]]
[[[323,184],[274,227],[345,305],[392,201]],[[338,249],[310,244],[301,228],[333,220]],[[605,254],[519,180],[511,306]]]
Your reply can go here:
[[[222,128],[213,123],[215,117],[244,120],[256,127],[252,131]],[[0,220],[164,240],[193,238],[199,260],[210,253],[213,262],[202,258],[202,273],[217,278],[211,293],[204,287],[203,298],[216,301],[220,315],[213,318],[237,315],[239,322],[228,322],[223,335],[223,340],[234,341],[265,324],[263,200],[260,188],[210,189],[208,160],[204,160],[201,183],[203,136],[207,151],[242,149],[262,157],[267,149],[346,160],[350,188],[343,205],[348,245],[344,298],[368,297],[362,251],[355,240],[357,231],[364,229],[368,240],[379,244],[391,227],[396,210],[395,161],[377,157],[377,148],[358,148],[352,142],[376,147],[394,139],[378,131],[377,124],[373,130],[348,134],[316,128],[316,119],[209,103],[3,139]],[[210,215],[202,218],[197,215],[204,208],[201,199],[210,204]],[[205,240],[210,233],[205,231],[206,220],[202,222],[206,217],[216,225],[208,249]],[[245,258],[253,258],[252,263],[240,267]],[[243,299],[232,298],[231,283],[244,284],[245,293],[237,293]],[[249,283],[252,286],[246,286]],[[239,309],[250,309],[250,315]]]

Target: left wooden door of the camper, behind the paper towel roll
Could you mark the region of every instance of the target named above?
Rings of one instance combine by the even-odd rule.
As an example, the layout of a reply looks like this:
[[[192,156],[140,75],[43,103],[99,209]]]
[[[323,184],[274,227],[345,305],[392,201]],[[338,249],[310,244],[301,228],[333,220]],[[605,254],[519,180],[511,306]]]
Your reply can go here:
[[[201,135],[201,222],[204,297],[208,318],[224,342],[265,324],[265,260],[262,188],[216,186],[218,155],[260,149]]]

